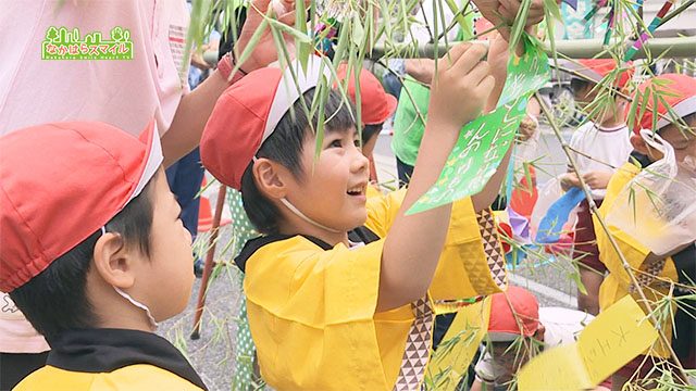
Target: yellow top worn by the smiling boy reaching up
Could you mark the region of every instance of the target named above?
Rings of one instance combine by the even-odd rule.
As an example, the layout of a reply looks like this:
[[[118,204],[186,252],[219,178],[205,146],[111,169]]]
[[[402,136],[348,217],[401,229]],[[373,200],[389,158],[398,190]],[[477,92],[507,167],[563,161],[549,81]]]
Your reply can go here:
[[[365,227],[384,238],[403,193],[369,199]],[[295,236],[266,243],[248,257],[244,288],[249,325],[261,374],[271,387],[394,387],[414,317],[410,305],[375,314],[383,244],[380,239],[325,250]],[[453,205],[430,298],[437,303],[499,291],[486,262],[473,205],[462,200]],[[501,273],[505,278],[505,265]]]

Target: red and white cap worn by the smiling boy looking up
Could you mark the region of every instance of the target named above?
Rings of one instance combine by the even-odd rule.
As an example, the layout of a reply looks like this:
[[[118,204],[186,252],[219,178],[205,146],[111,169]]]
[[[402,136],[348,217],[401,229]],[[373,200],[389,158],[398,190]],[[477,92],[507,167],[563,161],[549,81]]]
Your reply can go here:
[[[320,58],[311,56],[307,71],[298,62],[285,71],[264,67],[228,87],[217,99],[200,140],[206,168],[224,185],[241,189],[241,176],[263,141],[327,71]]]

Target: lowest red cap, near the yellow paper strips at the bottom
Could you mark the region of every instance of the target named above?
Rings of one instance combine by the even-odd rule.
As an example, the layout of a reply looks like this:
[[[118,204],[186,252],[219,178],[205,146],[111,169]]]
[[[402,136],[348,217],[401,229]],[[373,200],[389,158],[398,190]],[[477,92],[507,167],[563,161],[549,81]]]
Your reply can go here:
[[[490,297],[488,337],[492,341],[508,342],[520,336],[532,337],[538,328],[539,303],[526,289],[510,286],[506,292]]]

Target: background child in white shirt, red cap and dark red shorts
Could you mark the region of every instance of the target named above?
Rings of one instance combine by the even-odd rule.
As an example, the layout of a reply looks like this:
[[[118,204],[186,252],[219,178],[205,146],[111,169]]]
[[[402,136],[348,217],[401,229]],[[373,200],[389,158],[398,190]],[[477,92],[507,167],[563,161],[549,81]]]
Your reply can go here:
[[[570,141],[570,147],[575,152],[577,169],[592,189],[593,200],[597,205],[601,205],[609,178],[625,163],[633,150],[629,140],[631,131],[625,123],[626,100],[616,96],[614,91],[598,87],[598,83],[605,77],[609,79],[612,77],[610,75],[618,72],[614,60],[580,60],[579,63],[571,62],[568,66],[585,77],[571,78],[571,88],[576,103],[587,105],[598,96],[607,96],[607,104],[589,108],[588,121],[573,133]],[[619,90],[624,88],[631,75],[631,72],[619,73],[613,84],[616,88]],[[568,173],[561,176],[561,186],[566,190],[581,186],[570,166]],[[573,258],[577,263],[580,279],[586,289],[586,292],[577,290],[577,307],[597,315],[599,286],[607,267],[599,261],[599,250],[587,200],[583,200],[577,206],[577,224],[573,240]]]

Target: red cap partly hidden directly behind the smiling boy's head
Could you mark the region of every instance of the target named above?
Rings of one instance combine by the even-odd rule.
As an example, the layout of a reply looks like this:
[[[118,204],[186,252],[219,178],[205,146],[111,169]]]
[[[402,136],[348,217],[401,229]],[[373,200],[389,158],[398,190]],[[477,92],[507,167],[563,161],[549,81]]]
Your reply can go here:
[[[347,70],[347,64],[340,64],[336,70],[336,75],[341,83],[346,79]],[[348,80],[348,96],[356,104],[356,76],[352,70]],[[360,70],[360,98],[363,125],[382,124],[396,111],[396,98],[386,93],[380,80],[365,68]]]

